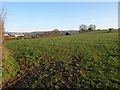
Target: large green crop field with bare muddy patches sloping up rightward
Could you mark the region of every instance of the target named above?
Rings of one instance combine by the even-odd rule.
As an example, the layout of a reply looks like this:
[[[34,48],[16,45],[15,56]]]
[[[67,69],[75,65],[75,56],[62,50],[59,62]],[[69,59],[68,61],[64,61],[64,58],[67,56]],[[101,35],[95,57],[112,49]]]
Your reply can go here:
[[[120,88],[117,31],[12,40],[6,47],[3,82],[23,76],[10,87]]]

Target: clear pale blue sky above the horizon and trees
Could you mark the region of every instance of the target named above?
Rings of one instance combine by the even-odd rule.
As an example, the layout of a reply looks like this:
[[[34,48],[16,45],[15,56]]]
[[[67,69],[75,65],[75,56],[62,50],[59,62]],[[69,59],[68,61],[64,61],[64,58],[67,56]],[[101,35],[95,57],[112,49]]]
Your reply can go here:
[[[117,2],[4,2],[2,6],[8,32],[78,30],[81,24],[118,27]]]

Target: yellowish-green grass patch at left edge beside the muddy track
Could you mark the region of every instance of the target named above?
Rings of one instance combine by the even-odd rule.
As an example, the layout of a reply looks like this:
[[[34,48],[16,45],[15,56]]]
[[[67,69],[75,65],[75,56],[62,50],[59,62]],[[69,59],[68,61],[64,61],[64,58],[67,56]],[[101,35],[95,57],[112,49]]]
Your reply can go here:
[[[20,67],[18,62],[15,60],[12,55],[7,55],[5,60],[3,60],[3,68],[2,68],[2,82],[5,83],[9,81],[9,79],[15,77]]]

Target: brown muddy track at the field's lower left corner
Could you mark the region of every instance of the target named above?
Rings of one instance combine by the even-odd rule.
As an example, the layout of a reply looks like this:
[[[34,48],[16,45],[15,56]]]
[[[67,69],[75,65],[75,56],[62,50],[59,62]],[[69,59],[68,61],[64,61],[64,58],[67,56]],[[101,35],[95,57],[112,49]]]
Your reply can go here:
[[[24,71],[24,74],[21,74],[21,76],[14,78],[11,81],[8,81],[4,86],[2,90],[6,90],[7,88],[22,88],[22,86],[26,82],[34,82],[37,80],[40,76],[39,72],[41,71],[41,67],[34,67],[30,70]]]

